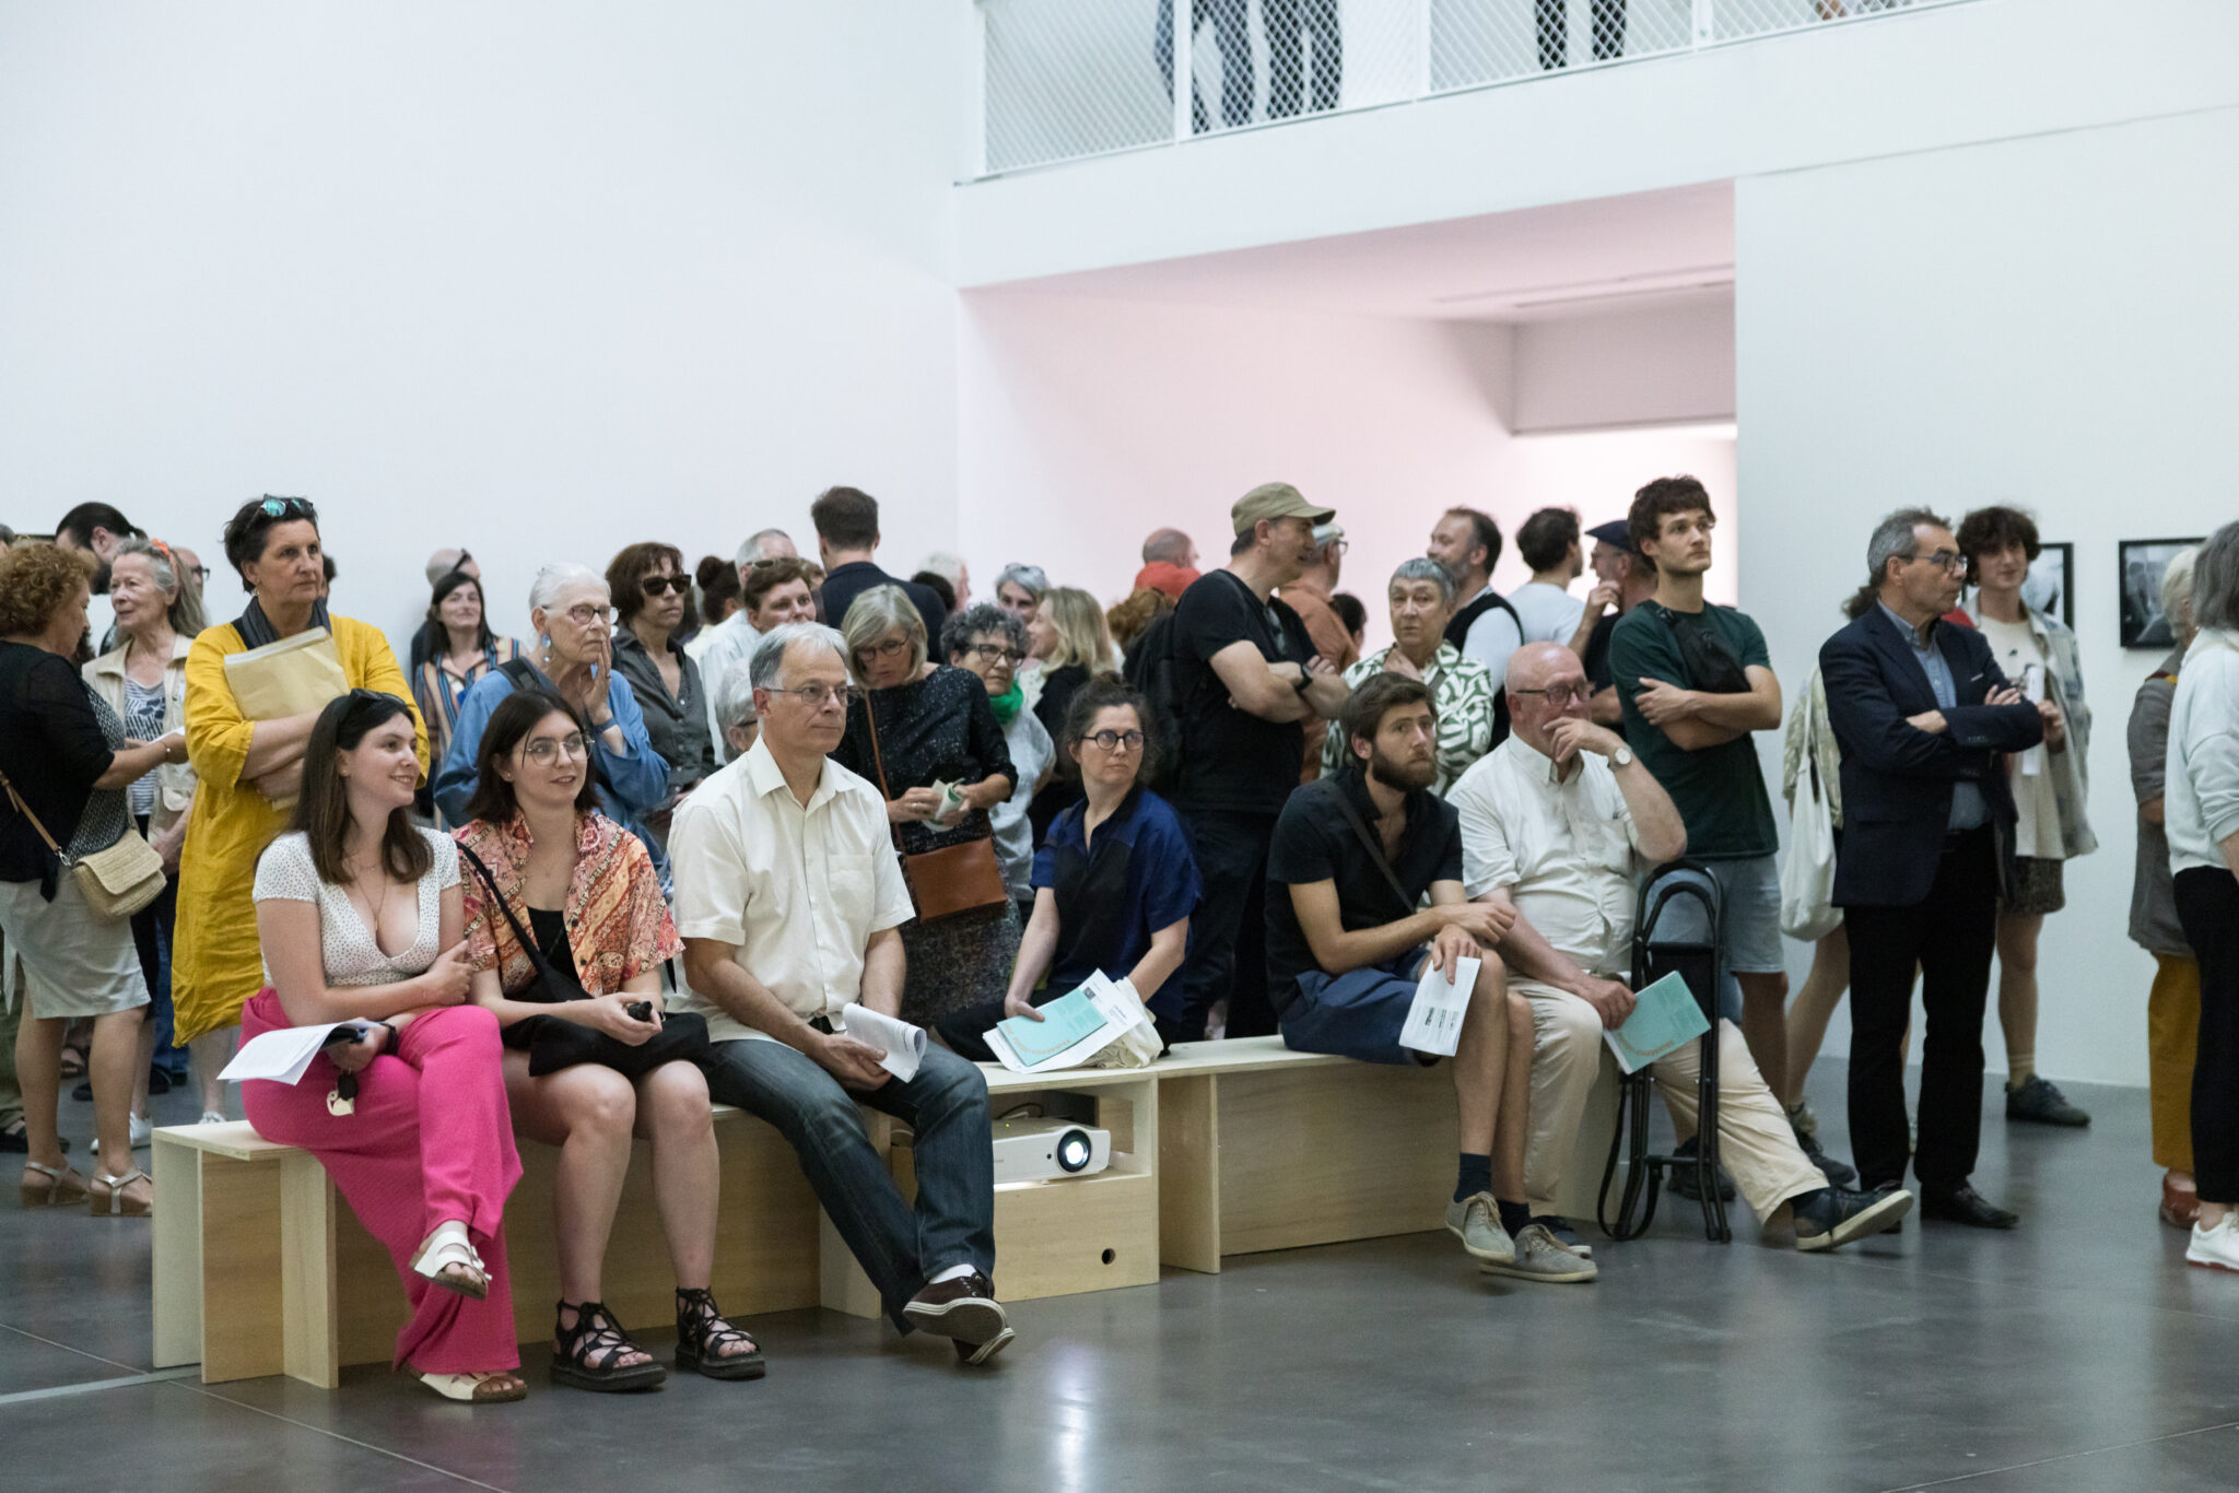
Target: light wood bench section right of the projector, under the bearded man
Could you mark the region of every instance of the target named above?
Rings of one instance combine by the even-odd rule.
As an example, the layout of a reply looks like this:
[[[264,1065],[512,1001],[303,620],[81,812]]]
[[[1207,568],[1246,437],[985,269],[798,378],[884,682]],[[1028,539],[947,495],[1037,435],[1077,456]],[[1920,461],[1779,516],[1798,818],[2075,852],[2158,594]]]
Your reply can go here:
[[[1587,1104],[1558,1206],[1594,1215],[1617,1119],[1614,1061]],[[1160,1258],[1220,1258],[1442,1229],[1453,1072],[1292,1052],[1281,1036],[1178,1043],[1160,1079]]]

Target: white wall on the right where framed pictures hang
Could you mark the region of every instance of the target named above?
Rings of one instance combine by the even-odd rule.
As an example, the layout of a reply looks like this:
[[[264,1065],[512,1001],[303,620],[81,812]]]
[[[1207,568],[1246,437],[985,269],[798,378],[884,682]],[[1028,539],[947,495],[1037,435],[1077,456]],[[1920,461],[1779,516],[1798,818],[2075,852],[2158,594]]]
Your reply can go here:
[[[2239,517],[2235,159],[2239,110],[2214,110],[1737,184],[1742,604],[1789,689],[1879,515],[2013,501],[2076,544],[2100,848],[2044,927],[2053,1077],[2145,1079],[2123,727],[2161,651],[2118,647],[2116,542]],[[1845,1016],[1827,1050],[1847,1050]]]

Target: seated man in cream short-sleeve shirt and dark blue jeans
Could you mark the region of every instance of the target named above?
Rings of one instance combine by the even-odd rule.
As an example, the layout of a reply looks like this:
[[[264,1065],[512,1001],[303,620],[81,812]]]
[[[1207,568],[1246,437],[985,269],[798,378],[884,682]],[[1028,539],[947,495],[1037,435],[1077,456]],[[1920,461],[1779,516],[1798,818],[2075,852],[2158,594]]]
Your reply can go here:
[[[902,1332],[925,1327],[985,1363],[1012,1339],[994,1271],[994,1151],[987,1081],[927,1048],[907,1083],[849,1036],[860,1001],[896,1016],[900,924],[914,915],[887,801],[826,759],[846,730],[840,633],[790,622],[752,656],[761,736],[676,808],[676,929],[708,1018],[708,1095],[793,1142],[824,1213]],[[902,1202],[858,1104],[916,1135],[918,1204]]]

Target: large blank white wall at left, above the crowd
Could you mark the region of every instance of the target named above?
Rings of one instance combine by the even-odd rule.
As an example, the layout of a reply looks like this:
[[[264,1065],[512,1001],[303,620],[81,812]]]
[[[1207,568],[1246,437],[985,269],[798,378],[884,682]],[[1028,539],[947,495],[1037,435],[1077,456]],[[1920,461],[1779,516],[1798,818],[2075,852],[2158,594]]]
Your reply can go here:
[[[219,515],[302,492],[399,645],[443,544],[508,631],[542,560],[806,542],[835,481],[947,544],[961,22],[0,7],[0,519],[103,499],[219,566]]]

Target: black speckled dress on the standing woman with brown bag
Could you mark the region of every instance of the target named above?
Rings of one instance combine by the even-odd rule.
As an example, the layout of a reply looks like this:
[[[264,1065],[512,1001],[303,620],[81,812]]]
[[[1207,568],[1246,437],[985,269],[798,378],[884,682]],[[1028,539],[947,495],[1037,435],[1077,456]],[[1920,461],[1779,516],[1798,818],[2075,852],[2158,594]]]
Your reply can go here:
[[[875,712],[875,716],[873,716]],[[878,721],[878,745],[871,721]],[[846,736],[833,761],[866,777],[889,799],[934,783],[976,783],[1001,772],[1017,781],[1003,727],[987,705],[978,674],[949,665],[893,689],[871,689],[849,707]],[[884,768],[884,770],[880,770]],[[956,828],[914,821],[896,826],[902,855],[922,855],[972,839],[994,839],[985,810],[969,810]],[[940,922],[905,922],[902,1018],[929,1023],[965,1005],[1001,1001],[1019,954],[1019,911],[1001,907],[956,913]]]

